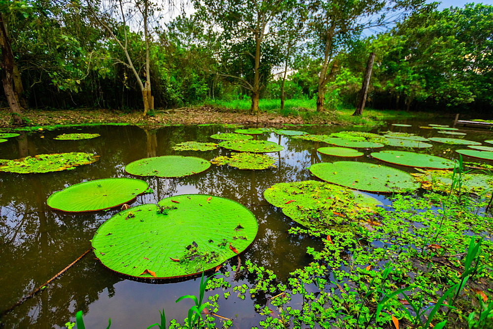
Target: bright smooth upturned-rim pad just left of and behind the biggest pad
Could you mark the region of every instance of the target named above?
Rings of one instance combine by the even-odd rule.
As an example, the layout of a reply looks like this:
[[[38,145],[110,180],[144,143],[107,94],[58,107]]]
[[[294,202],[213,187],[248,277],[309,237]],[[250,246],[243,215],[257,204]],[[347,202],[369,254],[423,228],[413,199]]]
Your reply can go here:
[[[70,212],[103,210],[133,200],[148,187],[146,182],[135,178],[97,179],[55,192],[46,203],[54,209]]]

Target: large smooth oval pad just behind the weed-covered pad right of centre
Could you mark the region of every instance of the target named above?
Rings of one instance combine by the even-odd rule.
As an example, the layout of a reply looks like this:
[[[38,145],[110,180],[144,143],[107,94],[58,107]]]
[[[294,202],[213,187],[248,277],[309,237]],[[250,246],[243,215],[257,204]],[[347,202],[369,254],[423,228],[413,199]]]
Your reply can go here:
[[[338,161],[310,167],[324,181],[368,192],[409,192],[420,187],[405,171],[365,162]]]

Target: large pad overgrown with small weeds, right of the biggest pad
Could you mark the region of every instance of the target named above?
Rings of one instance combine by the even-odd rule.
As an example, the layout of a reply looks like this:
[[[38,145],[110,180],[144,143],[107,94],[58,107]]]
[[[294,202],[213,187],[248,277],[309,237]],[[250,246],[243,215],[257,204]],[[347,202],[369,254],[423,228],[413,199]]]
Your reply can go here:
[[[264,191],[264,197],[295,222],[314,229],[331,227],[340,217],[368,216],[381,204],[373,197],[313,180],[275,184]]]

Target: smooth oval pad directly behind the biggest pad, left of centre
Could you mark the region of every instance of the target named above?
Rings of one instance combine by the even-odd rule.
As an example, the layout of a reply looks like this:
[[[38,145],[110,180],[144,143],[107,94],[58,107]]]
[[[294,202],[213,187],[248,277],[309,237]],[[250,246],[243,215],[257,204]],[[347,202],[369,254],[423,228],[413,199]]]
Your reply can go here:
[[[208,169],[211,163],[197,157],[166,155],[145,158],[125,166],[125,171],[137,176],[183,177]]]

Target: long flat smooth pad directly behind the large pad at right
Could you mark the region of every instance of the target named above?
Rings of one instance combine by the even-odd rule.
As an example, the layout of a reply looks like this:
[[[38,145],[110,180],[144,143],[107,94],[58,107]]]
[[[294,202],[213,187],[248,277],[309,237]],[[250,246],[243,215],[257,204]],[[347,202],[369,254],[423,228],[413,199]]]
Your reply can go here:
[[[409,167],[450,169],[456,166],[456,163],[452,160],[414,152],[382,151],[373,152],[371,156],[391,164],[406,165]]]

